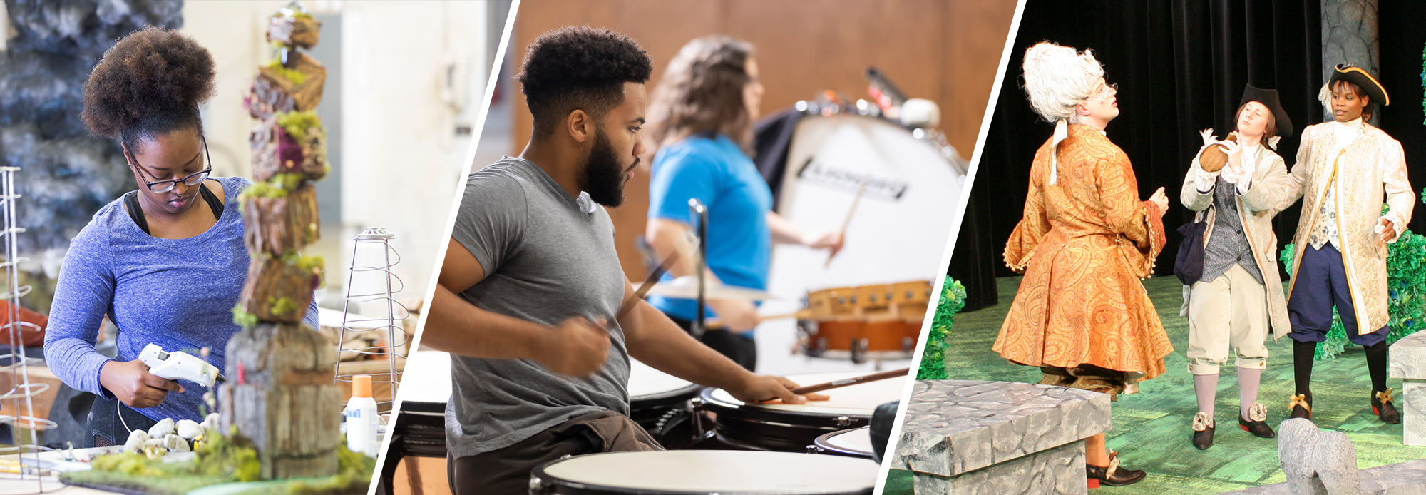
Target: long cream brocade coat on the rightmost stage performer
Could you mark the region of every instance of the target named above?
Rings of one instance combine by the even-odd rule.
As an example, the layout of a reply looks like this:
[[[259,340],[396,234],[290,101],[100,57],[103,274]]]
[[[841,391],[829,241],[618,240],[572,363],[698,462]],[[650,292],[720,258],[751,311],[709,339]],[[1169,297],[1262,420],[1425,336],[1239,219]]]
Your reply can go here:
[[[1386,214],[1400,235],[1412,220],[1416,194],[1406,180],[1406,158],[1402,144],[1370,124],[1362,124],[1362,133],[1340,153],[1336,151],[1336,123],[1326,121],[1308,126],[1302,131],[1302,146],[1298,148],[1298,164],[1292,167],[1291,198],[1302,197],[1302,217],[1298,234],[1292,243],[1292,285],[1298,282],[1298,267],[1302,252],[1309,248],[1308,237],[1318,221],[1322,201],[1328,193],[1333,173],[1338,193],[1338,238],[1342,264],[1346,268],[1348,287],[1352,291],[1352,305],[1356,308],[1358,331],[1370,334],[1386,327],[1386,247],[1376,244],[1375,227],[1382,218],[1382,203],[1389,207]],[[1396,240],[1392,240],[1395,243]],[[1292,288],[1288,288],[1292,298]]]

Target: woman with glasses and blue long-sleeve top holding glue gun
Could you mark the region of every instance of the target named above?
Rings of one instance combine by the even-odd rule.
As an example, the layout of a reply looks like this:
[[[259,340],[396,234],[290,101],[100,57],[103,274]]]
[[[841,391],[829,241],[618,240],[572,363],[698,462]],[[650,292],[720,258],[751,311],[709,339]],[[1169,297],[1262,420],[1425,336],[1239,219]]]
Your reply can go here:
[[[150,374],[137,359],[145,345],[208,349],[221,369],[228,338],[241,330],[231,310],[248,251],[237,197],[252,183],[208,177],[198,106],[212,96],[212,80],[208,50],[145,27],[114,44],[84,83],[84,124],[120,141],[138,185],[70,243],[44,340],[50,369],[97,395],[96,445],[123,445],[130,429],[163,418],[202,419],[207,389]],[[305,318],[314,328],[315,314],[309,307]],[[94,349],[106,315],[120,330],[117,359]]]

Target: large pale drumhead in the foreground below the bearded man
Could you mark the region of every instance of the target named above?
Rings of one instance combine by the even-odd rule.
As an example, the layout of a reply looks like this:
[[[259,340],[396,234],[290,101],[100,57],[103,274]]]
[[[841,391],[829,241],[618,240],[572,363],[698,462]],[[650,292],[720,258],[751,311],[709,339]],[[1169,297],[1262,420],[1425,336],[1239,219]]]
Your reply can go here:
[[[532,495],[870,495],[877,464],[833,455],[656,451],[576,455],[530,474]]]

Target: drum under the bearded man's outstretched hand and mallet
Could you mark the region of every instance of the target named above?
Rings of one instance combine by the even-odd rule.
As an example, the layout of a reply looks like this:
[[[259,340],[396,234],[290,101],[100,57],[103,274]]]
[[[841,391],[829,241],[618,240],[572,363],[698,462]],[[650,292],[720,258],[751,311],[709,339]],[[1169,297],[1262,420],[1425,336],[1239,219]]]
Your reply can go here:
[[[787,375],[799,385],[814,385],[864,375],[864,372],[813,372]],[[716,448],[806,452],[817,437],[871,424],[877,405],[901,399],[906,377],[834,388],[829,401],[807,404],[743,402],[720,388],[704,388],[704,411],[712,419]]]

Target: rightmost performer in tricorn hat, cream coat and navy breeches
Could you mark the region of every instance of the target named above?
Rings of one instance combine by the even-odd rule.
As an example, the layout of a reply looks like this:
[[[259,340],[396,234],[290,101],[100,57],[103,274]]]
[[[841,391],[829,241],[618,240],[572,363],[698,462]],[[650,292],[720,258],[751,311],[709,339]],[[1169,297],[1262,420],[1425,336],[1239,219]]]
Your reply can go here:
[[[1360,67],[1336,66],[1318,97],[1333,121],[1302,130],[1292,167],[1293,200],[1301,194],[1303,203],[1288,288],[1296,379],[1289,409],[1312,417],[1312,357],[1336,307],[1348,340],[1366,348],[1372,414],[1395,424],[1402,417],[1386,388],[1386,244],[1406,230],[1416,195],[1402,144],[1366,123],[1390,104],[1386,88]]]

